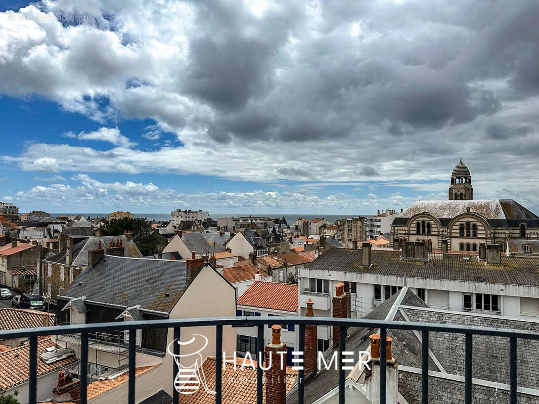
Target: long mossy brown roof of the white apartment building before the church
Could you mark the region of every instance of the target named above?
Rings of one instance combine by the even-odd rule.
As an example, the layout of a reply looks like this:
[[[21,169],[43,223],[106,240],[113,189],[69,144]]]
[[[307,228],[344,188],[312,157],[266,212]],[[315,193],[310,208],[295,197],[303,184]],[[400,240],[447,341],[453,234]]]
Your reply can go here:
[[[401,260],[400,251],[371,250],[371,266],[362,264],[361,249],[331,248],[306,269],[428,278],[464,282],[539,285],[539,260],[530,256],[502,256],[501,264],[487,264],[472,254],[430,253],[428,261]],[[464,257],[469,260],[464,260]]]

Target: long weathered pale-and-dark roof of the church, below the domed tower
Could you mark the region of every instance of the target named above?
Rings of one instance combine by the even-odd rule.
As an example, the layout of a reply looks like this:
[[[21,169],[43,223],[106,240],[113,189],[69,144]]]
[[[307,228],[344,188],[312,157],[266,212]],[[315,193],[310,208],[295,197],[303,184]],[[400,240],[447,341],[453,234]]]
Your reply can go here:
[[[535,213],[513,199],[420,200],[414,202],[400,214],[400,217],[411,218],[416,214],[427,212],[436,218],[454,218],[466,213],[468,208],[470,212],[479,213],[486,219],[539,219]]]

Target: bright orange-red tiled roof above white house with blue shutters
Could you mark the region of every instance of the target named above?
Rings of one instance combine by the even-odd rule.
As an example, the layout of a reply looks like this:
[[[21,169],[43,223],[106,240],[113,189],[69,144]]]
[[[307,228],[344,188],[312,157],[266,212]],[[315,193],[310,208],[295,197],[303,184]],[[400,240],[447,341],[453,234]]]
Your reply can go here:
[[[241,306],[298,312],[298,285],[254,281],[237,303]]]

